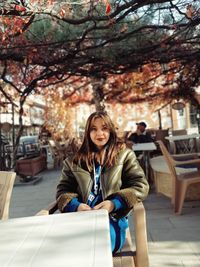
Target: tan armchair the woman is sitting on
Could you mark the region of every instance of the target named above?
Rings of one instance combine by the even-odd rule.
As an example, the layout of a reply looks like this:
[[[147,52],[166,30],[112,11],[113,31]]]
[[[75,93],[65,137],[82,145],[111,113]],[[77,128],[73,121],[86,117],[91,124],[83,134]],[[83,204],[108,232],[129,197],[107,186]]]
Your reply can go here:
[[[36,215],[53,214],[57,209],[57,203],[54,202],[47,209],[41,210]],[[149,267],[146,215],[142,202],[134,205],[133,223],[135,248],[131,240],[130,229],[128,228],[125,246],[113,256],[114,267]]]

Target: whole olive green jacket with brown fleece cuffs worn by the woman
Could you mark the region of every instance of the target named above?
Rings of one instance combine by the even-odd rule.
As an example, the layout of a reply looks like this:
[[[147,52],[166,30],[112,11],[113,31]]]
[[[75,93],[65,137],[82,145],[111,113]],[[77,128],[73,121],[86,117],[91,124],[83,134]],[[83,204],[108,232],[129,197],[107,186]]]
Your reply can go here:
[[[56,194],[61,212],[74,197],[77,197],[80,202],[87,202],[93,177],[93,172],[89,172],[86,167],[72,164],[69,158],[64,161]],[[118,218],[126,216],[135,203],[146,198],[149,191],[147,179],[135,153],[128,148],[119,152],[114,166],[102,168],[100,181],[104,200],[119,195],[127,204],[126,209],[113,214]]]

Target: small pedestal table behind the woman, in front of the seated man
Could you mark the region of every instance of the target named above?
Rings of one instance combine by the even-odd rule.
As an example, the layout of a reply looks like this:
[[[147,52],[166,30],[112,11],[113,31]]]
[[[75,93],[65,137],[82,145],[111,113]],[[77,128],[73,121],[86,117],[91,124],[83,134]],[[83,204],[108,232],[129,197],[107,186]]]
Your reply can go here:
[[[141,151],[143,154],[143,159],[144,159],[144,170],[146,177],[148,181],[150,181],[149,177],[149,158],[150,158],[150,152],[153,150],[156,150],[157,147],[154,142],[149,142],[149,143],[137,143],[133,144],[132,146],[133,151]]]

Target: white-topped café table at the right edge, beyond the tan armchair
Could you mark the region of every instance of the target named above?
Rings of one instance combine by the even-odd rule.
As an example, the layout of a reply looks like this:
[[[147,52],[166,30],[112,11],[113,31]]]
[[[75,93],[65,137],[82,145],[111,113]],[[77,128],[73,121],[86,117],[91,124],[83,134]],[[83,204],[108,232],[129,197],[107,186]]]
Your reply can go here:
[[[166,136],[172,154],[186,154],[199,152],[200,134]]]

